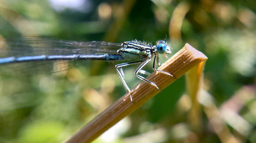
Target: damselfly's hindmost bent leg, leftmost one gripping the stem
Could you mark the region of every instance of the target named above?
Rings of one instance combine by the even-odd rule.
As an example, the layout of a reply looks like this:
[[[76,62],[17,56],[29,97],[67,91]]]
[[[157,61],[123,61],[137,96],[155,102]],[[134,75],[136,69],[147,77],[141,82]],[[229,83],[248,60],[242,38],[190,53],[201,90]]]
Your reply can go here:
[[[120,77],[123,85],[124,85],[124,88],[127,90],[127,92],[129,92],[130,94],[130,98],[131,98],[131,101],[133,102],[133,97],[132,97],[132,93],[131,93],[131,90],[130,88],[128,87],[128,85],[126,84],[125,80],[124,80],[124,74],[123,74],[123,70],[122,70],[122,67],[125,67],[125,66],[129,66],[129,65],[134,65],[134,64],[139,64],[141,63],[142,61],[137,61],[137,62],[131,62],[131,63],[122,63],[122,64],[118,64],[116,65],[116,71],[117,71],[117,74],[118,76]],[[119,71],[119,68],[120,68],[120,71]]]

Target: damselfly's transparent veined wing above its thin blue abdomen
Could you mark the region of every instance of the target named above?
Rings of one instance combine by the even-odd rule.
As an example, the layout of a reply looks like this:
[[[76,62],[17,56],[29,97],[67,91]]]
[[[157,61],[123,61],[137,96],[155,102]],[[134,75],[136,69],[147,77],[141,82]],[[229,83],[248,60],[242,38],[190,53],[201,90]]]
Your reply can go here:
[[[51,40],[38,37],[24,37],[11,40],[0,39],[0,58],[32,55],[72,55],[116,53],[120,43],[77,42]]]

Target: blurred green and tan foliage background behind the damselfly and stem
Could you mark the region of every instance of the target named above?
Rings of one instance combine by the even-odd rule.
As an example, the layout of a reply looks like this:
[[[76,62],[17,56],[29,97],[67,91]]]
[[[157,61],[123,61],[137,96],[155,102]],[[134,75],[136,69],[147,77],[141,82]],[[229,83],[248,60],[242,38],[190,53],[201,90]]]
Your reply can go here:
[[[194,115],[199,125],[183,76],[94,142],[256,142],[255,11],[252,0],[1,0],[0,37],[155,44],[167,35],[173,53],[189,43],[208,57],[204,90],[212,104]],[[114,67],[93,61],[52,74],[0,71],[0,142],[68,139],[125,94]],[[130,87],[139,82],[134,70],[125,69]]]

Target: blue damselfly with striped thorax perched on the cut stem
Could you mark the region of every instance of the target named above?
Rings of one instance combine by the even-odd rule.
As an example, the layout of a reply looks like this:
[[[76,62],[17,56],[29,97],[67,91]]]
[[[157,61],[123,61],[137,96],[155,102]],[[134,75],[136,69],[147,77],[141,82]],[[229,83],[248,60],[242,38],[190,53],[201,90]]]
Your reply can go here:
[[[156,69],[156,63],[160,66],[159,54],[167,57],[166,54],[170,53],[170,46],[167,44],[166,40],[157,41],[156,45],[152,45],[137,40],[123,43],[110,43],[98,41],[55,41],[38,38],[20,38],[10,41],[4,41],[2,39],[0,43],[0,64],[56,60],[133,61],[115,66],[124,88],[130,93],[131,101],[133,101],[131,90],[124,80],[122,68],[129,65],[140,64],[135,71],[135,75],[160,90],[155,83],[140,74],[150,74],[142,70],[142,68],[149,63],[154,56],[153,70],[174,77],[170,73]]]

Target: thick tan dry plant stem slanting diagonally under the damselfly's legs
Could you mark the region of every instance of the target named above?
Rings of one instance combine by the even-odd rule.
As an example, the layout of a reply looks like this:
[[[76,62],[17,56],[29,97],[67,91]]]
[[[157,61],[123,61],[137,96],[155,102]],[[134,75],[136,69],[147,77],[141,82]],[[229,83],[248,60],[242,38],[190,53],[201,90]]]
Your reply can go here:
[[[158,70],[168,72],[176,78],[155,71],[148,76],[147,79],[157,84],[159,89],[163,90],[170,83],[184,75],[188,70],[206,60],[207,57],[203,53],[189,44],[185,44],[180,51],[158,68]],[[132,90],[133,102],[130,100],[129,93],[125,94],[86,126],[82,127],[67,142],[91,142],[104,131],[115,125],[118,121],[130,115],[130,113],[135,111],[159,92],[160,91],[153,85],[144,81],[140,82]]]

